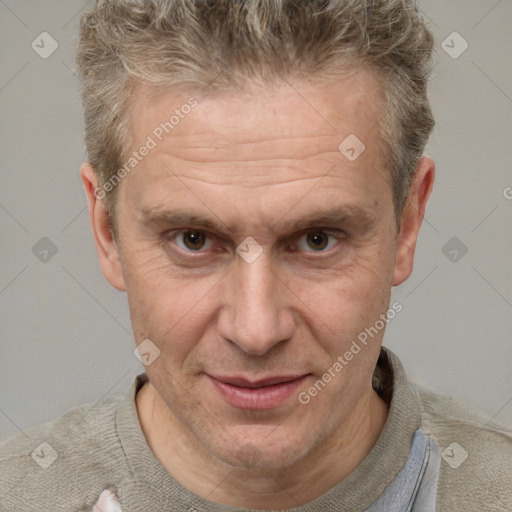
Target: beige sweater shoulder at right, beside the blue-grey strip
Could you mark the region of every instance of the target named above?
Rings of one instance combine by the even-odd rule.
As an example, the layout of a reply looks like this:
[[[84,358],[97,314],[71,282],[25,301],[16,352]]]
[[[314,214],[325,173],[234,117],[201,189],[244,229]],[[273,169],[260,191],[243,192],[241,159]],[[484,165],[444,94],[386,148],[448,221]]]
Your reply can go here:
[[[510,510],[512,429],[452,396],[410,387],[441,452],[439,510]]]

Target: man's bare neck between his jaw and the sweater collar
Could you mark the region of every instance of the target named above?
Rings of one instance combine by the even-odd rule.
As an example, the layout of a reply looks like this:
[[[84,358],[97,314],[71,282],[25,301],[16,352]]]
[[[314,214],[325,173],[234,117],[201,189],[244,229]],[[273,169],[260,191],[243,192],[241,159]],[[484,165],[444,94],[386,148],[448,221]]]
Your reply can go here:
[[[341,482],[368,455],[388,413],[370,388],[343,424],[306,457],[292,466],[264,470],[233,467],[213,457],[172,415],[151,383],[140,389],[136,404],[149,446],[176,481],[210,501],[256,509],[297,507]]]

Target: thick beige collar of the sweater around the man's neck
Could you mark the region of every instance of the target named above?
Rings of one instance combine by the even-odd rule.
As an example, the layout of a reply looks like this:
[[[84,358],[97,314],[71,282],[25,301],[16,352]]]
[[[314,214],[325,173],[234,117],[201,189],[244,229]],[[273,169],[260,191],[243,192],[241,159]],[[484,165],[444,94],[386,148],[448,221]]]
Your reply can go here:
[[[146,381],[145,373],[132,379],[116,412],[117,433],[133,477],[127,484],[137,487],[138,492],[154,495],[154,509],[173,504],[184,510],[194,507],[198,512],[240,510],[201,498],[177,482],[160,464],[146,441],[137,415],[135,397]],[[365,510],[403,467],[412,436],[420,426],[420,413],[401,361],[386,347],[381,348],[373,387],[389,404],[389,413],[370,453],[350,475],[325,494],[288,512]]]

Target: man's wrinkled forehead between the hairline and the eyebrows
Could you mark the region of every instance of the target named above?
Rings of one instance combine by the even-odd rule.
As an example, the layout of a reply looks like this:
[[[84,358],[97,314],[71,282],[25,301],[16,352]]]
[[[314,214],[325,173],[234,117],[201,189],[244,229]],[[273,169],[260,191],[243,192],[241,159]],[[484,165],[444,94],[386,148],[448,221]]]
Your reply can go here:
[[[372,172],[385,175],[381,115],[380,84],[367,71],[328,84],[282,81],[243,93],[154,94],[140,87],[132,96],[130,151],[148,138],[153,147],[126,180],[131,182],[128,200],[140,211],[164,208],[173,201],[186,203],[184,196],[193,190],[216,208],[219,197],[214,196],[223,194],[226,204],[245,201],[262,211],[262,196],[267,205],[284,207],[321,180],[309,194],[316,203],[337,195],[347,204],[361,202],[366,194],[370,204],[376,185]],[[339,151],[349,136],[366,146],[355,161]],[[382,189],[382,181],[377,185]],[[334,193],[322,192],[333,187]]]

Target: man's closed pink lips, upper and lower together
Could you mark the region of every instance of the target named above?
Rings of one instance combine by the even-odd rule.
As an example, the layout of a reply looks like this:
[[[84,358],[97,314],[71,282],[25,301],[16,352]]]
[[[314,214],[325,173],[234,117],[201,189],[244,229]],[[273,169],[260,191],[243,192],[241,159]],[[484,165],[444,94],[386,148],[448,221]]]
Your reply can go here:
[[[238,409],[264,410],[282,405],[308,375],[275,376],[257,381],[245,377],[208,375],[224,400]]]

